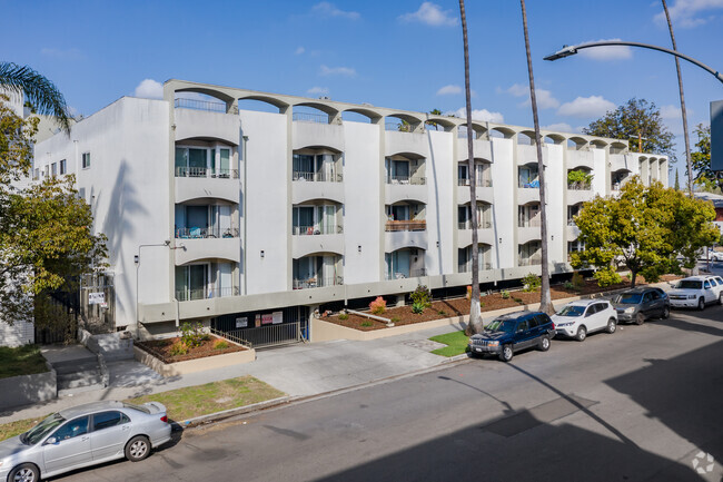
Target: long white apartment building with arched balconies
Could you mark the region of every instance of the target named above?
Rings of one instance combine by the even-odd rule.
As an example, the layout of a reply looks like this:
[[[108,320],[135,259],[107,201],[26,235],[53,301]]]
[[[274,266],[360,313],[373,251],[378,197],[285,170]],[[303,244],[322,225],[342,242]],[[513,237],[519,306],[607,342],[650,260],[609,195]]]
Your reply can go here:
[[[539,274],[531,128],[474,121],[467,132],[463,119],[369,105],[180,80],[164,89],[165,100],[123,97],[70,138],[36,148],[37,178],[76,174],[96,230],[108,236],[119,328],[137,317],[141,335],[191,319],[254,326],[273,312],[277,322],[304,322],[328,303],[418,284],[464,287],[472,216],[481,283]],[[179,98],[186,92],[219,101]],[[245,110],[249,100],[278,111]],[[543,137],[551,270],[564,273],[582,203],[636,174],[667,185],[667,158],[628,153],[620,140]],[[568,186],[572,169],[592,181]]]

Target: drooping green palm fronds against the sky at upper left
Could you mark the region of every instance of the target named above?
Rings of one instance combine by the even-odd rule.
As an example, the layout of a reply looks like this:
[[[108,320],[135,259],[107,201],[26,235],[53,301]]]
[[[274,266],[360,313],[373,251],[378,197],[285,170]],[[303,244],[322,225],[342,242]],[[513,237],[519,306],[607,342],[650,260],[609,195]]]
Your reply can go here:
[[[66,98],[50,80],[30,67],[0,62],[0,88],[24,95],[38,114],[55,117],[62,130],[70,132]]]

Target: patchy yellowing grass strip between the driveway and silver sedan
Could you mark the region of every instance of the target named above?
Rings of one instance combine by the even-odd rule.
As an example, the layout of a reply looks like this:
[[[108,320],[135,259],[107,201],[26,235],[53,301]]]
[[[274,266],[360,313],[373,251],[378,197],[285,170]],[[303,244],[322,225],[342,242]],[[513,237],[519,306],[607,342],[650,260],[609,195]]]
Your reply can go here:
[[[168,417],[175,421],[207,415],[284,396],[283,392],[252,376],[222,380],[205,385],[170,390],[168,392],[130,399],[130,403],[160,402]]]

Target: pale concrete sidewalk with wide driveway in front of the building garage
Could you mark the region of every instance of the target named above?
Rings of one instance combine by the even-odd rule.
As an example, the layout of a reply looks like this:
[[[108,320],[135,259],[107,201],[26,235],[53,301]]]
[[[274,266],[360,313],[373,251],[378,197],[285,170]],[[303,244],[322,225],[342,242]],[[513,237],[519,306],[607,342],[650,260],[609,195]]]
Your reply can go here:
[[[2,411],[0,424],[42,417],[83,403],[130,399],[244,375],[261,380],[291,397],[318,395],[444,364],[448,358],[429,353],[444,345],[427,338],[457,329],[462,326],[368,342],[341,340],[263,350],[252,363],[168,378],[132,360],[110,362],[108,387],[78,388],[57,400]]]

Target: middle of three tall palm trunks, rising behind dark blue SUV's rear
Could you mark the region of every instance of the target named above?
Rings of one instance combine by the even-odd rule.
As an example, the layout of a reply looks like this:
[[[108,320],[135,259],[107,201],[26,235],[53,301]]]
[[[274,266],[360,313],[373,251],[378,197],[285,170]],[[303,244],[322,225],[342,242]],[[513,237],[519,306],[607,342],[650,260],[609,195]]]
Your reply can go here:
[[[529,51],[529,35],[527,33],[527,11],[525,0],[519,0],[522,6],[522,24],[525,30],[525,50],[527,51],[527,72],[529,75],[529,100],[532,101],[532,116],[535,122],[535,145],[537,147],[537,170],[539,173],[539,217],[542,226],[542,287],[539,291],[539,311],[552,314],[554,307],[549,295],[549,266],[547,263],[547,206],[545,203],[545,166],[542,157],[542,138],[539,136],[539,120],[537,119],[537,98],[535,97],[535,77],[532,71],[532,53]]]

